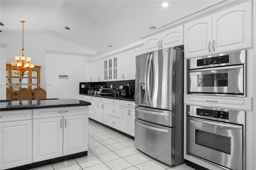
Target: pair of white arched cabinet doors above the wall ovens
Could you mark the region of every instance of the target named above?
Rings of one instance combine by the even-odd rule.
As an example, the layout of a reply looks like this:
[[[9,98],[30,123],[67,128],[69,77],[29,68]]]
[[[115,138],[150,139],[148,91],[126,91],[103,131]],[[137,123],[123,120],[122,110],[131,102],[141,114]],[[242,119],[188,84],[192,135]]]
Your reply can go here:
[[[184,25],[185,58],[252,45],[251,1]]]

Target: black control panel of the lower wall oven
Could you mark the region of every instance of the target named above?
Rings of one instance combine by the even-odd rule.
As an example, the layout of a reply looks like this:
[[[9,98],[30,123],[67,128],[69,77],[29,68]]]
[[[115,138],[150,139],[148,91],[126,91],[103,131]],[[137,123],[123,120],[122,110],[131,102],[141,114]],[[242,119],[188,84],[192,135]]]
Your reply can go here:
[[[197,108],[196,115],[205,116],[205,117],[214,117],[219,119],[228,119],[228,112],[224,112],[224,111],[214,111],[214,110]]]

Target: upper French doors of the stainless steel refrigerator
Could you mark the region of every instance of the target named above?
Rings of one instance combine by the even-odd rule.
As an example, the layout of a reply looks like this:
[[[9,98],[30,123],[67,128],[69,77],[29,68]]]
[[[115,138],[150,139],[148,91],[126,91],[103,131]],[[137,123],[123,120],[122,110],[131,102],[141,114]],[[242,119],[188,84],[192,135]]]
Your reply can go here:
[[[173,48],[136,56],[137,105],[175,109],[175,61],[176,50]]]

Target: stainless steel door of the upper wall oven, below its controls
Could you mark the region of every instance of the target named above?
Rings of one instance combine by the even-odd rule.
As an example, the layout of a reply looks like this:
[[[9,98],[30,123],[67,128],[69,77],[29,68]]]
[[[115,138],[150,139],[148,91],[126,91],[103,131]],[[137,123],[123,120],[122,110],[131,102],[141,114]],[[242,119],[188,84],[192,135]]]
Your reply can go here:
[[[188,93],[244,94],[244,67],[188,70]]]

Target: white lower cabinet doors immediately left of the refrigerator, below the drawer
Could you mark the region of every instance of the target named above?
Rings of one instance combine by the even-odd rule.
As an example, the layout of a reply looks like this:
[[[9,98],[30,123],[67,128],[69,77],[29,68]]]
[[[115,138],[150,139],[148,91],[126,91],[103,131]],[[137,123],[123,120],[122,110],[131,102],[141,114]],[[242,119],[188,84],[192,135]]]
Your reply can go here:
[[[120,107],[120,131],[134,136],[135,132],[135,109]]]

